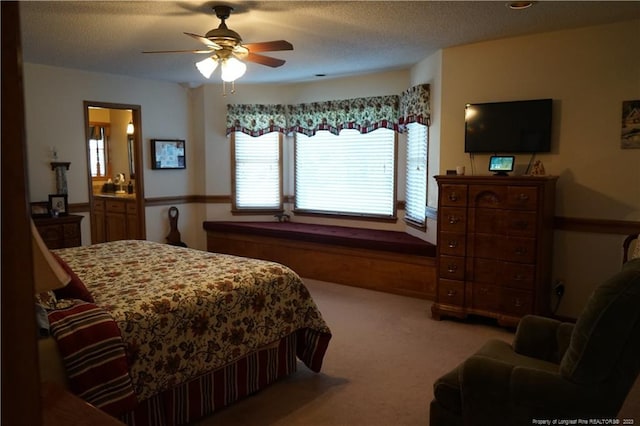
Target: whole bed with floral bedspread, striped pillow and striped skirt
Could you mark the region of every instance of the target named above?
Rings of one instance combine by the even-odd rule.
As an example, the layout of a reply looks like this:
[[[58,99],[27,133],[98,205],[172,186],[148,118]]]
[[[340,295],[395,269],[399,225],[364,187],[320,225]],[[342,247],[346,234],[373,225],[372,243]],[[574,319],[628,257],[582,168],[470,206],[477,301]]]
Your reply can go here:
[[[59,355],[68,387],[124,423],[192,422],[293,373],[296,357],[321,369],[331,332],[281,264],[139,240],[52,252],[72,282],[48,311],[43,370]]]

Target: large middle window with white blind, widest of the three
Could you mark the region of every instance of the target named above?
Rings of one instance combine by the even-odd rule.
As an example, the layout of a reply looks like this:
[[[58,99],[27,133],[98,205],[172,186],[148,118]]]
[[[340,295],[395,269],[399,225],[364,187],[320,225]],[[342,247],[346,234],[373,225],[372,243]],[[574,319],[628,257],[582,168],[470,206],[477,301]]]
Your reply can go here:
[[[295,144],[296,211],[395,217],[393,130],[298,133]]]

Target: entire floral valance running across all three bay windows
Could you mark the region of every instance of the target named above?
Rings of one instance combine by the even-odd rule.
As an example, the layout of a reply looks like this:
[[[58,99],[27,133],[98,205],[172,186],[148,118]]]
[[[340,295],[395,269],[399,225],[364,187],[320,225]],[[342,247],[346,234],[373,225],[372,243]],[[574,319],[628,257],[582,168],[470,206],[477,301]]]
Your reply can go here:
[[[342,129],[368,133],[387,128],[402,132],[404,125],[429,125],[429,85],[405,90],[401,96],[373,96],[296,105],[227,105],[227,135],[243,132],[260,136],[269,132],[302,133],[318,130],[339,134]]]

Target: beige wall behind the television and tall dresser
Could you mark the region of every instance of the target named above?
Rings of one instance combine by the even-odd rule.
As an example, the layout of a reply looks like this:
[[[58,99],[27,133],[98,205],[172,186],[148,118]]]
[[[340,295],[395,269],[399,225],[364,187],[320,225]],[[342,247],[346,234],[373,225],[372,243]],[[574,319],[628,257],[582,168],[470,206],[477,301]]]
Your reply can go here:
[[[487,156],[464,153],[464,105],[553,98],[556,215],[640,220],[640,149],[620,148],[622,101],[640,99],[640,21],[496,40],[446,49],[442,60],[440,168]],[[528,155],[516,162],[526,167]],[[429,198],[432,200],[432,198]],[[623,236],[557,231],[554,279],[566,283],[558,313],[577,316],[591,291],[620,268]]]

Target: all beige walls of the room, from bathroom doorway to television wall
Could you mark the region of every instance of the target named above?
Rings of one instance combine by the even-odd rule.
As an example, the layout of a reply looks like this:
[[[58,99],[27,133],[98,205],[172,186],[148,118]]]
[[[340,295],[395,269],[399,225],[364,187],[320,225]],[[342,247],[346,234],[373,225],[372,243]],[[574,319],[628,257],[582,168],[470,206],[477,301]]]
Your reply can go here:
[[[84,151],[83,100],[142,106],[145,195],[147,198],[230,194],[230,151],[225,136],[226,104],[295,103],[398,94],[407,87],[431,84],[429,174],[462,164],[464,104],[550,97],[554,99],[553,152],[538,156],[548,173],[560,176],[556,214],[614,220],[640,220],[640,150],[620,149],[621,102],[640,99],[640,56],[633,50],[640,22],[496,40],[445,49],[410,70],[291,85],[237,84],[222,96],[219,84],[194,89],[178,84],[25,64],[27,143],[31,200],[46,199],[55,188],[48,167],[50,147],[61,161],[71,161],[69,201],[88,201]],[[187,169],[150,169],[149,139],[187,140]],[[402,139],[400,140],[402,146]],[[285,155],[291,156],[292,140]],[[402,155],[402,154],[401,154]],[[285,157],[286,158],[286,157]],[[476,156],[476,171],[486,169]],[[518,156],[519,165],[528,158]],[[403,199],[399,161],[399,199]],[[435,182],[429,183],[429,206],[437,205]],[[292,171],[286,171],[285,194],[292,194]],[[183,204],[179,227],[183,241],[205,248],[203,220],[233,217],[226,204]],[[147,207],[147,237],[164,241],[165,206]],[[239,218],[234,218],[239,219]],[[242,217],[251,220],[252,217]],[[296,220],[309,220],[296,218]],[[83,221],[83,243],[89,222]],[[371,226],[371,223],[332,221]],[[404,229],[397,225],[379,225]],[[435,239],[429,231],[409,230]],[[619,269],[622,236],[556,232],[554,277],[567,285],[559,313],[575,316],[592,289]]]

